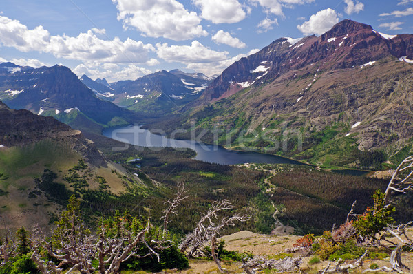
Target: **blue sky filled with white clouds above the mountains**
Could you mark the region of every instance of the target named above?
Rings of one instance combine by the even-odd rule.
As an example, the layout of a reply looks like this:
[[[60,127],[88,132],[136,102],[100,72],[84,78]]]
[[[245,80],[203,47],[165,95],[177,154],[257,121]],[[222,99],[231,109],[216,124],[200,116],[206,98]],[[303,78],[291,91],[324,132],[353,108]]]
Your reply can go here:
[[[343,19],[412,34],[413,0],[1,0],[0,61],[109,82],[176,68],[212,76]]]

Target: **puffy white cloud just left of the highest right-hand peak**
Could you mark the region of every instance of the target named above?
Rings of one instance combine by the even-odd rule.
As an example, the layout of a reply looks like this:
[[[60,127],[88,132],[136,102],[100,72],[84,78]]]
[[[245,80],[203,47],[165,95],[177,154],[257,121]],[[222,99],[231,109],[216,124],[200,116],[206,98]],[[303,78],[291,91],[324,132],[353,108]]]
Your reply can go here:
[[[304,22],[302,25],[297,25],[297,28],[304,35],[321,35],[330,30],[330,28],[338,22],[339,18],[335,10],[327,8],[326,10],[317,12],[317,14],[311,15],[310,20]]]

